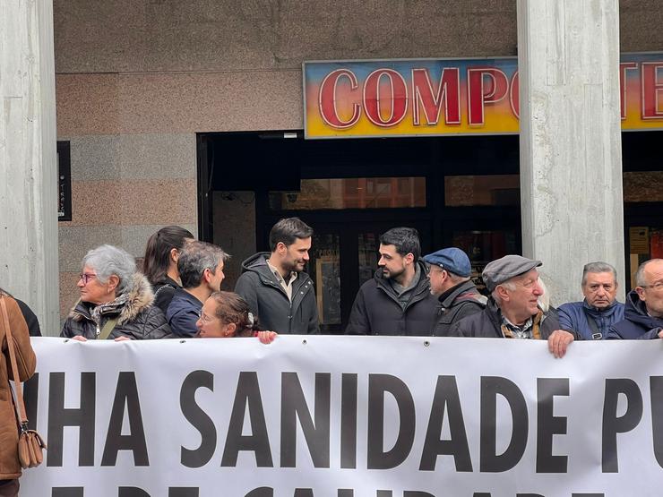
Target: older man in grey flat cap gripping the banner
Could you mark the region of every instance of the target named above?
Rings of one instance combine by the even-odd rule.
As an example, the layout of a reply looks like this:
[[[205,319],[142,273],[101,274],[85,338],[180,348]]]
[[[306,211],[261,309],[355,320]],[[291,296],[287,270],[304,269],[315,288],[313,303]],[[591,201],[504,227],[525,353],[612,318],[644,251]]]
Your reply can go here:
[[[539,309],[538,297],[543,295],[538,283],[540,265],[541,261],[521,255],[506,255],[488,263],[483,272],[491,293],[486,309],[456,322],[450,336],[542,339],[548,341],[555,357],[563,357],[575,335],[559,330],[555,315]]]

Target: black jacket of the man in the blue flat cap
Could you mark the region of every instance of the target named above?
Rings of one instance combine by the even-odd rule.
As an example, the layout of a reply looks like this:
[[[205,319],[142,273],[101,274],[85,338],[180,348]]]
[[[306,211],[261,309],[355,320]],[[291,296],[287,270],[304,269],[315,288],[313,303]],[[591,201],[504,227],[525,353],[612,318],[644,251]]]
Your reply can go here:
[[[456,321],[480,313],[486,308],[487,299],[478,293],[471,280],[464,281],[438,297],[435,337],[448,337]]]

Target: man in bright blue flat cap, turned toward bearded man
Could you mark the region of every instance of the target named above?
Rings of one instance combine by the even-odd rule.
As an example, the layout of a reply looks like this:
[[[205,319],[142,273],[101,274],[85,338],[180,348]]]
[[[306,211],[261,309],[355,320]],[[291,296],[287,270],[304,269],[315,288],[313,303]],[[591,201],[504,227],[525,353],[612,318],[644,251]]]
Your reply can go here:
[[[430,264],[428,280],[430,293],[437,297],[435,337],[448,337],[452,324],[486,307],[486,297],[478,293],[469,278],[472,266],[469,257],[456,247],[429,253],[424,261]]]

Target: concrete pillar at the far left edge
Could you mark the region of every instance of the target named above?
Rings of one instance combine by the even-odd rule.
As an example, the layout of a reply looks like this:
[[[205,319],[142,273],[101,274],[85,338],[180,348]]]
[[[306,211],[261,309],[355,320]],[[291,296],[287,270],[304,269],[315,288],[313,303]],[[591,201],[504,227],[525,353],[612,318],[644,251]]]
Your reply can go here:
[[[0,2],[0,287],[59,333],[53,1]]]

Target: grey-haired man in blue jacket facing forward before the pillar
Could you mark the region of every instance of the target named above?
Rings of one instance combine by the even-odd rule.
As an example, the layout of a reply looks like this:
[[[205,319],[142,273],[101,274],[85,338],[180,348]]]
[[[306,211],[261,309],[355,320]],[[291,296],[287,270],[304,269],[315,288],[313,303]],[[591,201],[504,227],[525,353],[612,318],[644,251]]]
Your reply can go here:
[[[583,340],[601,340],[607,330],[624,319],[624,304],[617,302],[617,270],[607,262],[590,262],[582,269],[582,302],[559,306],[562,330],[576,331]]]

